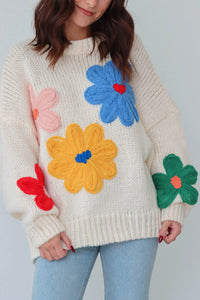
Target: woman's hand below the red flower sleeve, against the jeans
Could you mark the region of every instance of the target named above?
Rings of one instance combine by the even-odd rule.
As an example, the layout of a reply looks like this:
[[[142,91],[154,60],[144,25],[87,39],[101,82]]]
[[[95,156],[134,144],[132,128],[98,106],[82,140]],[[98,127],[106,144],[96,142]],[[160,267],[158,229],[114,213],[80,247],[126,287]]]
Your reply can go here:
[[[39,247],[41,257],[46,258],[48,261],[52,261],[54,259],[59,260],[60,258],[63,258],[65,255],[67,255],[67,249],[63,249],[61,239],[70,249],[72,246],[71,240],[63,231]]]

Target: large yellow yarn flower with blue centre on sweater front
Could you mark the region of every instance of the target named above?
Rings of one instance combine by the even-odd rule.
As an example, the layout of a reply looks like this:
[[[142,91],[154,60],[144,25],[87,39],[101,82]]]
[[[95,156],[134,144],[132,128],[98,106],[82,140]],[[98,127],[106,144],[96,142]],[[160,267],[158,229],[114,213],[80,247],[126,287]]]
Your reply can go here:
[[[104,131],[97,123],[90,124],[83,131],[71,123],[66,128],[66,138],[52,136],[48,139],[47,151],[53,160],[48,172],[58,179],[65,179],[64,186],[71,193],[84,187],[89,193],[98,193],[103,178],[111,179],[117,174],[115,162],[117,146],[110,139],[104,139]]]

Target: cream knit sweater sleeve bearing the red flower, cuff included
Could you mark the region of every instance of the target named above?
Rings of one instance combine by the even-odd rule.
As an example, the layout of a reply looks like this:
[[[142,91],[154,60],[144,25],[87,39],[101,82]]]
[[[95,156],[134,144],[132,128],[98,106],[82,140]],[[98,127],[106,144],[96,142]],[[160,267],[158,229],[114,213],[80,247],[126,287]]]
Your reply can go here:
[[[39,143],[27,92],[23,43],[5,58],[0,86],[1,194],[6,211],[20,220],[36,247],[65,230],[45,188]]]

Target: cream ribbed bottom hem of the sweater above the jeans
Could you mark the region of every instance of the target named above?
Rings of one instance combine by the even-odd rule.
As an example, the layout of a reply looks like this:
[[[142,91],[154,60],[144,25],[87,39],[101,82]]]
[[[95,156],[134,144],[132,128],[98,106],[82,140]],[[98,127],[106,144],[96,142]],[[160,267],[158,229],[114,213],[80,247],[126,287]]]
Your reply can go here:
[[[62,222],[64,223],[64,222]],[[161,228],[160,209],[122,212],[103,216],[65,218],[65,233],[73,247],[98,246],[140,238],[158,237]],[[29,239],[31,261],[40,256]],[[70,251],[70,250],[68,250]]]

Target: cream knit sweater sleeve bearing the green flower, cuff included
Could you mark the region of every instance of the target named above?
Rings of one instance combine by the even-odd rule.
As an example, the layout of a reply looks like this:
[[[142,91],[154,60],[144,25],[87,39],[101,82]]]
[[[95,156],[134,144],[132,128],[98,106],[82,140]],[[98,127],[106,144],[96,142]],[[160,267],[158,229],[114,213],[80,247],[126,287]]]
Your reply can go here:
[[[152,64],[140,36],[136,33],[131,58],[140,118],[153,144],[146,161],[157,192],[161,222],[177,221],[183,227],[185,217],[197,203],[198,172],[192,165],[180,111]]]

